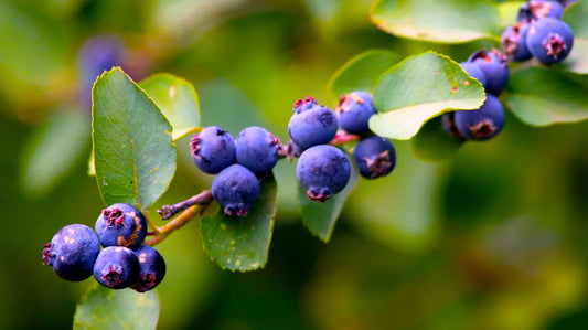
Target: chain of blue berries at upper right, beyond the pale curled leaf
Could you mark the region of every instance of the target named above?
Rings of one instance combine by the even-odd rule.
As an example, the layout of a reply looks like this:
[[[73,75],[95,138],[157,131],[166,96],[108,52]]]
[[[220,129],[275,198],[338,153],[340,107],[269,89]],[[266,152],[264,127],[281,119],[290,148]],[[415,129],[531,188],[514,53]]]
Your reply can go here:
[[[487,92],[487,99],[477,110],[443,114],[443,129],[453,138],[488,140],[504,127],[504,109],[498,99],[509,83],[509,61],[536,57],[544,64],[563,61],[574,44],[571,29],[559,20],[564,7],[558,1],[530,0],[517,17],[517,23],[502,34],[503,53],[481,50],[473,53],[461,68],[477,78]]]

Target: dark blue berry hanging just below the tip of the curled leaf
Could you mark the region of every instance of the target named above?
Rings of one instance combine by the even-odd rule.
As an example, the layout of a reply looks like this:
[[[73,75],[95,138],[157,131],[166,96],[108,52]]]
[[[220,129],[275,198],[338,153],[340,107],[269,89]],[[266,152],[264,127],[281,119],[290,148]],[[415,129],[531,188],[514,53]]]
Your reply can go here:
[[[488,140],[504,126],[504,109],[495,96],[487,94],[484,104],[478,110],[456,111],[453,120],[463,138]]]

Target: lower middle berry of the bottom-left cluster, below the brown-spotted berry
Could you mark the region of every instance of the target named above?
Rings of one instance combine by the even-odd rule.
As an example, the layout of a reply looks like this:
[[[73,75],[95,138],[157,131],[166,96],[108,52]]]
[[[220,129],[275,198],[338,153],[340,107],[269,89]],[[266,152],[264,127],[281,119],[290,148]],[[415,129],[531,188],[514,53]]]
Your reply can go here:
[[[111,289],[124,289],[139,276],[139,259],[132,249],[124,246],[103,248],[94,264],[94,278]]]

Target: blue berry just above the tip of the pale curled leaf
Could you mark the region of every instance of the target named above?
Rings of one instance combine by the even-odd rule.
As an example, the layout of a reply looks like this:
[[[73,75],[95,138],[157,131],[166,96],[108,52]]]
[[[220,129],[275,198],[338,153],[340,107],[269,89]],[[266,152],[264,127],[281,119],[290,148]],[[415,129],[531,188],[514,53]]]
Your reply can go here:
[[[468,62],[474,63],[487,78],[485,92],[499,95],[509,83],[507,58],[498,50],[481,50],[473,53]]]

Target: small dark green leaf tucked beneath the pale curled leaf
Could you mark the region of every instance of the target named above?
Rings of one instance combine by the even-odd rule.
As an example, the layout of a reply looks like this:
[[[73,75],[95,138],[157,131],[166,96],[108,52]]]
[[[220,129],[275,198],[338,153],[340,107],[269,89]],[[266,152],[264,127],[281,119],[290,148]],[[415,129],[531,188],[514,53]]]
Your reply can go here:
[[[442,117],[436,117],[427,121],[410,140],[413,155],[416,158],[438,162],[449,159],[463,145],[463,140],[450,137],[442,127]]]

